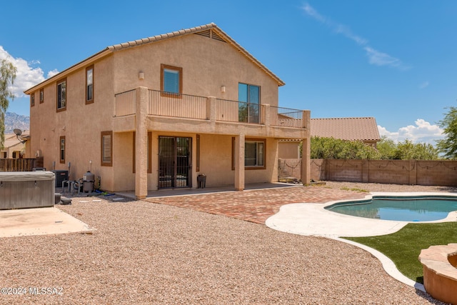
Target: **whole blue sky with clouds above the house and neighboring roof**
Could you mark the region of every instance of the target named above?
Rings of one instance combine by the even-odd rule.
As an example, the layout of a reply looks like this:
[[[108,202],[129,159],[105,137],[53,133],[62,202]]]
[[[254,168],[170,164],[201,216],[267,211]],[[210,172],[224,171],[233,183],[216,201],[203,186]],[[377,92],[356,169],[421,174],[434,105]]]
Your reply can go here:
[[[106,46],[214,22],[286,82],[312,118],[374,116],[381,135],[433,144],[457,99],[457,1],[8,1],[0,59],[22,94]]]

